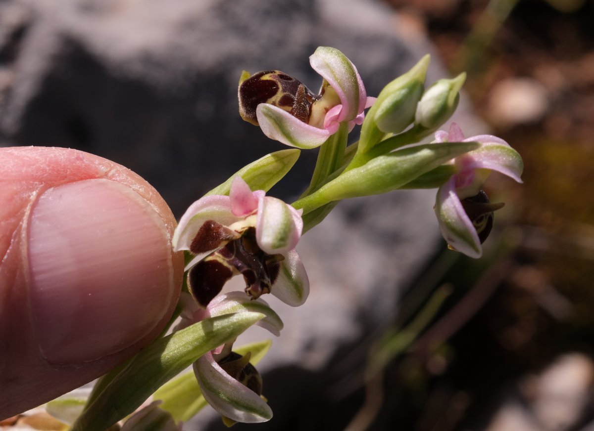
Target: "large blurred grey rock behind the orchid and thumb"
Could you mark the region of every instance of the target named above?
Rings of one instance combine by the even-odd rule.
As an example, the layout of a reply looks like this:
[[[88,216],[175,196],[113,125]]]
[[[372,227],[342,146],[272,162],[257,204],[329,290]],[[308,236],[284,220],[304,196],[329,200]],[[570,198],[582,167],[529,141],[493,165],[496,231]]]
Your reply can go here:
[[[369,95],[432,50],[391,9],[363,0],[5,0],[0,145],[112,159],[149,180],[179,217],[248,162],[282,149],[240,119],[241,71],[282,69],[317,90],[308,56],[320,45],[355,63]],[[446,75],[434,56],[428,82]],[[464,101],[456,118],[467,134],[484,130]],[[272,193],[295,197],[315,155],[302,152]],[[344,202],[304,237],[312,292],[299,309],[271,301],[285,330],[261,366],[276,414],[261,429],[289,429],[299,409],[324,416],[330,359],[390,319],[440,244],[433,203],[433,191]],[[365,347],[355,357],[361,365]]]

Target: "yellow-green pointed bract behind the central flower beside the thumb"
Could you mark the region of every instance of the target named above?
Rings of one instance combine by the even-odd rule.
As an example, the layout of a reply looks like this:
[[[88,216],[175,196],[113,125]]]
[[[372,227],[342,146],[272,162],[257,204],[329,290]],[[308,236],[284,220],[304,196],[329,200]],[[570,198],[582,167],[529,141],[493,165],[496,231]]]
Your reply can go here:
[[[214,187],[204,196],[209,194],[229,194],[233,178],[240,176],[248,183],[252,190],[268,191],[278,183],[291,170],[301,151],[296,148],[283,149],[265,155],[264,157],[251,162],[233,174],[225,183]]]

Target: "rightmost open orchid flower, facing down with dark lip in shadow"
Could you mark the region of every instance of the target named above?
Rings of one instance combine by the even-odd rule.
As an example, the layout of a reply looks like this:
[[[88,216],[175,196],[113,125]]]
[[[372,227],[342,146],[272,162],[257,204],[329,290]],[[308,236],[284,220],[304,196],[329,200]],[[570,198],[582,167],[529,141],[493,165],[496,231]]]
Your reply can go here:
[[[486,193],[481,190],[482,184],[491,171],[522,183],[522,157],[496,136],[465,138],[456,123],[451,124],[449,132],[440,130],[435,133],[434,142],[481,143],[478,149],[451,162],[456,173],[438,189],[435,202],[435,215],[448,247],[466,256],[481,257],[481,244],[491,231],[493,212],[503,207],[503,203],[489,203]]]

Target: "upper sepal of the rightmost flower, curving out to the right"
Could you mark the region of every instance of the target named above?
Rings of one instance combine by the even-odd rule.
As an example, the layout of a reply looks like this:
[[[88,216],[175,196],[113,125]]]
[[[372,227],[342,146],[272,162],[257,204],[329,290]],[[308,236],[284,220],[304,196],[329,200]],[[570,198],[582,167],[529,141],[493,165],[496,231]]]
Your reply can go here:
[[[489,169],[522,183],[524,162],[516,150],[507,144],[484,143],[481,148],[466,155],[469,163],[465,169]]]

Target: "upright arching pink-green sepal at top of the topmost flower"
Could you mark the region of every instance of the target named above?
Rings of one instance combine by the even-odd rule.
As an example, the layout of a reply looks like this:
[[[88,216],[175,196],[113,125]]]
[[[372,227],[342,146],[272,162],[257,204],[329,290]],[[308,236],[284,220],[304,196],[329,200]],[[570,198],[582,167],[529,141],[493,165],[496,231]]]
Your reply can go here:
[[[339,122],[355,119],[365,109],[367,94],[355,65],[335,48],[320,46],[309,57],[311,67],[336,91],[343,109]]]

